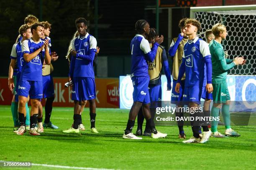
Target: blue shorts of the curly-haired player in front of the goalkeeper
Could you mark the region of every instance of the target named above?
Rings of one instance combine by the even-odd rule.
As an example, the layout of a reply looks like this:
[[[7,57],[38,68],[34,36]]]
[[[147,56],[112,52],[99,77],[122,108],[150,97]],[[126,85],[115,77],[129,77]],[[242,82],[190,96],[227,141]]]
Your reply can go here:
[[[205,87],[201,87],[197,85],[191,86],[191,87],[185,87],[183,92],[184,103],[188,104],[189,102],[195,102],[200,105],[204,88]]]

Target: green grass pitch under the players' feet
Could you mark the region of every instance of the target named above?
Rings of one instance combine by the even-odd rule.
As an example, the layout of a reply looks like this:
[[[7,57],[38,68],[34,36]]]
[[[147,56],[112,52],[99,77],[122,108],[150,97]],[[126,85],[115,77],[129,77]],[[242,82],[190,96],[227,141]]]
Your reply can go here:
[[[90,133],[88,108],[82,115],[85,131],[64,134],[73,122],[72,107],[54,107],[51,121],[58,130],[40,136],[13,133],[10,106],[0,106],[0,160],[111,169],[256,169],[256,126],[233,127],[239,138],[210,138],[205,144],[184,144],[176,126],[156,127],[167,138],[122,139],[129,110],[97,108],[98,134]],[[134,127],[133,133],[136,132]],[[191,127],[184,127],[187,138]],[[219,127],[224,133],[224,127]],[[15,168],[22,169],[25,168]],[[32,169],[59,169],[32,166]]]

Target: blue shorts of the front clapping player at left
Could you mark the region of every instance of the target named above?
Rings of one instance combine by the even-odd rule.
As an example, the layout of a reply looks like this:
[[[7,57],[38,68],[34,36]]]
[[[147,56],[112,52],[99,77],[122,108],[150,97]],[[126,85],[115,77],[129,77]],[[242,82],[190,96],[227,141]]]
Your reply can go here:
[[[20,79],[18,84],[18,95],[28,97],[31,99],[43,98],[43,82],[33,80]]]

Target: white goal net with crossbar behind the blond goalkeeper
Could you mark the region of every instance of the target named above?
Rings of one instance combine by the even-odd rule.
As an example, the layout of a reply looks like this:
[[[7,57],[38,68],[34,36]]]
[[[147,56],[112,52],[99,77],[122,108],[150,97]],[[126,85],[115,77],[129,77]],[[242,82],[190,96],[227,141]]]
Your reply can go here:
[[[205,31],[216,23],[227,27],[228,36],[223,41],[225,56],[233,59],[243,56],[246,65],[229,70],[230,75],[255,75],[256,73],[256,5],[191,7],[190,18],[199,20],[202,30],[198,37],[205,40]]]

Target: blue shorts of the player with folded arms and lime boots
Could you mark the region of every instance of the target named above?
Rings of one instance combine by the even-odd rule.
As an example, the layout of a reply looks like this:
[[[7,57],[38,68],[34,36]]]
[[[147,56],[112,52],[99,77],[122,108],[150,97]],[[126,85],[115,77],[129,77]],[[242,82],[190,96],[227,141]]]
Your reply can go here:
[[[72,100],[92,100],[96,97],[95,79],[92,77],[74,77]]]

